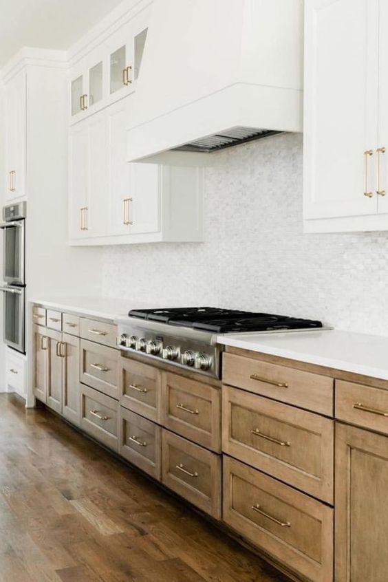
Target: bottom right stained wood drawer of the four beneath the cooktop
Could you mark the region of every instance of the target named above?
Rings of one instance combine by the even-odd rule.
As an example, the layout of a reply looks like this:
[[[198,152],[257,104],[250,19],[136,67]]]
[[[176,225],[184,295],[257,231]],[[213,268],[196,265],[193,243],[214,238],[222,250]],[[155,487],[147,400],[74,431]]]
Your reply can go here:
[[[162,429],[162,483],[220,519],[221,455]]]

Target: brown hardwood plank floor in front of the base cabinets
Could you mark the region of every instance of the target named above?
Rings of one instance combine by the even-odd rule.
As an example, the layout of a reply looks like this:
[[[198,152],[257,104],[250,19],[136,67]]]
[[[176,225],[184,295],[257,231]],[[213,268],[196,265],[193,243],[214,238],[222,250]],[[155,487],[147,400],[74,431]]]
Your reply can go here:
[[[1,582],[286,582],[49,411],[0,394]]]

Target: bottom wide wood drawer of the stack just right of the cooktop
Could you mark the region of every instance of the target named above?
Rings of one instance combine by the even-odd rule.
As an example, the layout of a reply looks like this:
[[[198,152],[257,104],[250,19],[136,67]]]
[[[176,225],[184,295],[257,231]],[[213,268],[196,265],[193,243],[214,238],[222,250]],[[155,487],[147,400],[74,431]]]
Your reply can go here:
[[[223,465],[224,521],[294,572],[332,582],[332,508],[230,457]]]

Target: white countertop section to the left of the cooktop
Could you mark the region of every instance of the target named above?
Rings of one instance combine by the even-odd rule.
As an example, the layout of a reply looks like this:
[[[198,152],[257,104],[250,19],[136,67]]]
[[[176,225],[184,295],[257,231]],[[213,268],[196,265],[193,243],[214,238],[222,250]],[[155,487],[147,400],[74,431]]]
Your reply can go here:
[[[112,320],[127,317],[131,309],[155,308],[155,305],[141,301],[114,299],[112,297],[45,297],[39,295],[30,299],[30,303],[40,303],[50,309]]]

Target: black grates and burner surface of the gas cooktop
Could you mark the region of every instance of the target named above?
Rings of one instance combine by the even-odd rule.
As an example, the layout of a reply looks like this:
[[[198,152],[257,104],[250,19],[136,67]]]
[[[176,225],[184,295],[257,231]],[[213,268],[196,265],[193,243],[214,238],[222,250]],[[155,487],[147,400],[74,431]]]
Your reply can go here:
[[[129,316],[217,334],[322,327],[311,319],[211,307],[131,310]]]

